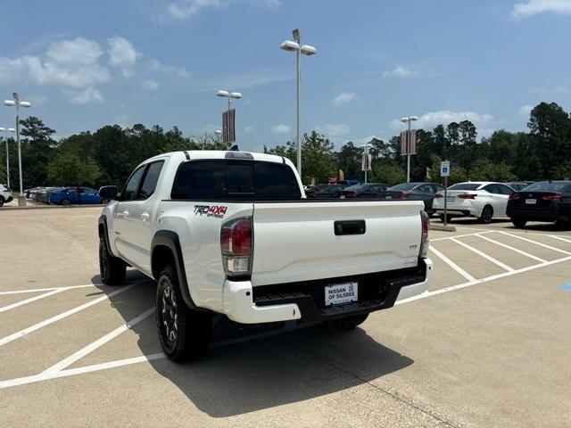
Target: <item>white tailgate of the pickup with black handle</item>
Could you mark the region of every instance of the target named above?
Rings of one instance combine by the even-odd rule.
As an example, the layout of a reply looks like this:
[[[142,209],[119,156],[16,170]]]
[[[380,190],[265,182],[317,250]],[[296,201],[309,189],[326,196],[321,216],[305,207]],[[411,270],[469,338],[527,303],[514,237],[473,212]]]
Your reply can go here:
[[[420,201],[255,202],[252,285],[417,266],[423,209]]]

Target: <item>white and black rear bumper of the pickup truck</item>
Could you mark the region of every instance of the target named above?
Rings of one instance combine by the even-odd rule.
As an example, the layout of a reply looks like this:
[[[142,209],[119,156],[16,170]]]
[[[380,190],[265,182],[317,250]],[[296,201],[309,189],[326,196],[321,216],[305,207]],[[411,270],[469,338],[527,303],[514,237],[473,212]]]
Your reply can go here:
[[[421,259],[416,270],[400,270],[406,271],[407,275],[393,271],[393,276],[391,272],[386,272],[377,275],[382,278],[365,278],[363,290],[360,291],[360,296],[365,296],[363,299],[329,307],[319,304],[319,290],[323,288],[321,283],[326,284],[327,280],[320,281],[319,284],[309,282],[266,285],[255,287],[255,290],[250,281],[227,280],[224,284],[224,312],[228,318],[238,323],[261,324],[293,319],[325,321],[388,309],[394,306],[396,300],[408,299],[425,292],[434,266],[431,259]],[[285,287],[286,292],[282,290]]]

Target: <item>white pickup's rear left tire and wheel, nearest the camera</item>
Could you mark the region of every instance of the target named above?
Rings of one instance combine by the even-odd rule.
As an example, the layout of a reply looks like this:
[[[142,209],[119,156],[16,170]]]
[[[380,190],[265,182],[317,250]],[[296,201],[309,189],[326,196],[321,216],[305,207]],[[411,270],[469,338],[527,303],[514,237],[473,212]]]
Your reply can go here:
[[[170,266],[157,281],[155,315],[161,348],[171,360],[183,362],[203,357],[211,342],[212,315],[190,309]]]

